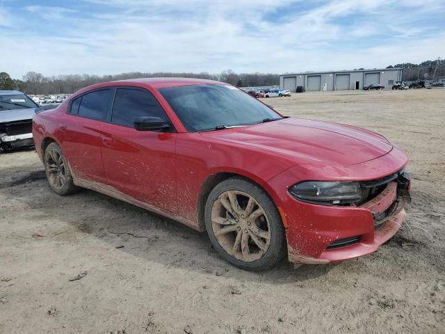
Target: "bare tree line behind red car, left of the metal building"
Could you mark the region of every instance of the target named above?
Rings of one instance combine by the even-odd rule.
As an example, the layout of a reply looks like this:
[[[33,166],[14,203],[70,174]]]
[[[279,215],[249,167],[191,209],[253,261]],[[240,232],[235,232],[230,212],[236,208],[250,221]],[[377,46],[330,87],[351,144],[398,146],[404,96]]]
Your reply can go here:
[[[238,87],[245,86],[273,86],[278,85],[280,74],[271,73],[235,73],[232,70],[224,70],[219,74],[202,73],[174,73],[174,72],[129,72],[114,75],[90,75],[90,74],[70,74],[59,75],[56,77],[44,77],[37,72],[26,73],[22,80],[11,79],[6,72],[0,73],[0,90],[20,90],[31,95],[49,95],[49,94],[70,94],[83,87],[99,82],[153,78],[153,77],[184,77],[209,79],[226,82]]]

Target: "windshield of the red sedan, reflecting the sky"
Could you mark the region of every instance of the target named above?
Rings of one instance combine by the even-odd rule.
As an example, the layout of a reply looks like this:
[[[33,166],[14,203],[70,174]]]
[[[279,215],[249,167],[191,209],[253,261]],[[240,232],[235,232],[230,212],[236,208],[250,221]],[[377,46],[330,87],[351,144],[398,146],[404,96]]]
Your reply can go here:
[[[278,113],[233,86],[159,88],[188,132],[209,131],[281,119]]]

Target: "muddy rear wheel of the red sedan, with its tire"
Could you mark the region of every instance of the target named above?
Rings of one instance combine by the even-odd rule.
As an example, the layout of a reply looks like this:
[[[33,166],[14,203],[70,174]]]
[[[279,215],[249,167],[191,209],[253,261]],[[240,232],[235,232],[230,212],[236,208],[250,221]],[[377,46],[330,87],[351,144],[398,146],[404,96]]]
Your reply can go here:
[[[67,160],[56,143],[49,144],[44,151],[44,169],[49,186],[55,193],[68,195],[78,189],[72,181]]]

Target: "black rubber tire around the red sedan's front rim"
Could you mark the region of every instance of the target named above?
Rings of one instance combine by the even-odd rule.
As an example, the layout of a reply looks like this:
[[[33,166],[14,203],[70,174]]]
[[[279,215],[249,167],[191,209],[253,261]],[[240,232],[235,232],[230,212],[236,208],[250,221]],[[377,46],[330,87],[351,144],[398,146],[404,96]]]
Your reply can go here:
[[[220,243],[218,242],[218,239],[214,234],[215,232],[213,232],[213,224],[212,224],[213,205],[215,202],[219,201],[219,197],[227,191],[239,191],[248,194],[257,202],[258,207],[260,207],[265,212],[265,218],[267,218],[268,221],[268,232],[270,233],[268,242],[270,243],[268,244],[267,250],[264,253],[262,253],[263,255],[261,255],[261,257],[257,260],[251,262],[245,262],[237,259],[236,257],[234,257],[234,255],[227,253],[227,251],[223,248],[223,246],[221,246]],[[268,194],[263,189],[257,186],[257,184],[254,184],[241,177],[232,177],[227,180],[224,180],[223,182],[220,182],[220,184],[218,184],[217,186],[215,186],[215,188],[213,188],[213,190],[209,195],[209,198],[207,198],[204,218],[207,228],[207,234],[209,234],[211,244],[218,251],[221,257],[223,257],[224,260],[226,260],[230,264],[233,264],[235,267],[250,271],[266,270],[275,267],[275,265],[278,262],[280,262],[280,260],[282,260],[284,255],[286,255],[287,251],[286,236],[284,234],[284,226],[282,223],[280,213],[278,212],[277,207],[275,207],[273,200],[268,196]],[[244,231],[247,232],[247,230]],[[239,232],[236,233],[238,237]],[[238,239],[237,237],[236,239]],[[248,248],[255,246],[256,245],[252,243],[249,244]]]

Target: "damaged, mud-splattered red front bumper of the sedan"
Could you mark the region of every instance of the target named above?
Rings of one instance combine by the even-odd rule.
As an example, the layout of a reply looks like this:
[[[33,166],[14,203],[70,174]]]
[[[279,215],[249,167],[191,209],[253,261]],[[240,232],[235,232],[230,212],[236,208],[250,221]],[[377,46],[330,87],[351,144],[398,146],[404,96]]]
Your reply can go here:
[[[389,182],[372,200],[358,207],[296,202],[296,216],[286,230],[290,262],[325,264],[373,253],[396,234],[410,201],[410,179]]]

